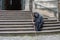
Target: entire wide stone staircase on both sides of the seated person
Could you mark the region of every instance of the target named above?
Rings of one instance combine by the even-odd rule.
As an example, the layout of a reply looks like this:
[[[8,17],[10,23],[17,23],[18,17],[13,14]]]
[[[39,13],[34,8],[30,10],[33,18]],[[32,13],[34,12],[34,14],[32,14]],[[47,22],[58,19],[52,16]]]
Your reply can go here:
[[[60,22],[56,18],[44,17],[42,31],[35,31],[32,12],[0,12],[0,33],[44,33],[60,32]]]

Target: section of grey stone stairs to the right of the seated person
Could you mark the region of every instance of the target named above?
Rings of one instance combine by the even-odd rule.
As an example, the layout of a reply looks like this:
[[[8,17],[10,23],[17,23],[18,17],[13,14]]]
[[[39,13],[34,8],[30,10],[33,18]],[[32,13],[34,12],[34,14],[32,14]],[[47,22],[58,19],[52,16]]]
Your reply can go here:
[[[41,32],[60,32],[60,22],[56,18],[44,18],[44,24]]]

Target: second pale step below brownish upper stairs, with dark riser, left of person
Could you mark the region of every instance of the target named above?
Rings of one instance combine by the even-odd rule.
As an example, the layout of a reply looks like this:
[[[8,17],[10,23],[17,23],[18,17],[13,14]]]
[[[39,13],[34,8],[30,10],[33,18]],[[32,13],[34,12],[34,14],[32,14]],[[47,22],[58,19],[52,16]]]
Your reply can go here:
[[[33,25],[34,22],[0,22],[0,25]]]

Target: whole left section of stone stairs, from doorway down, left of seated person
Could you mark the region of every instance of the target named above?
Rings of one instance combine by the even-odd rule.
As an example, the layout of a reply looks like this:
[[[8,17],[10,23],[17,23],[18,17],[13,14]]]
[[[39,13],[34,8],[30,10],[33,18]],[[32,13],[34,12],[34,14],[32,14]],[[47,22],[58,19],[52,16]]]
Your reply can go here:
[[[32,12],[0,12],[0,33],[28,33],[34,30]]]

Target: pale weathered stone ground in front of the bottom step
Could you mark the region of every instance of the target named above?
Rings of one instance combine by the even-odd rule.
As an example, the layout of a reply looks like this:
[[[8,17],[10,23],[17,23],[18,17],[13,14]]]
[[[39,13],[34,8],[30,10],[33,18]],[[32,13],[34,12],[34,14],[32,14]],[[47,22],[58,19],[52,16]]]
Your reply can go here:
[[[0,40],[60,40],[60,34],[39,34],[24,36],[0,36]]]

